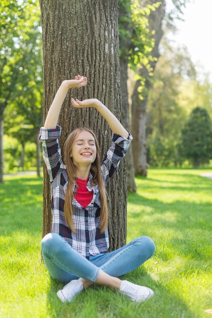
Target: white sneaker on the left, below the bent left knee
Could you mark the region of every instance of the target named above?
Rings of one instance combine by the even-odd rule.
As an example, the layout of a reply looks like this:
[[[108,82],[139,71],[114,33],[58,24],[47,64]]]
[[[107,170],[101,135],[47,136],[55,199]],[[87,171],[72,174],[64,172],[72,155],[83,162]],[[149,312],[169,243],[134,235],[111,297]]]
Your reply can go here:
[[[57,297],[61,302],[72,302],[73,298],[83,291],[83,282],[79,279],[71,280],[63,289],[57,292]]]

